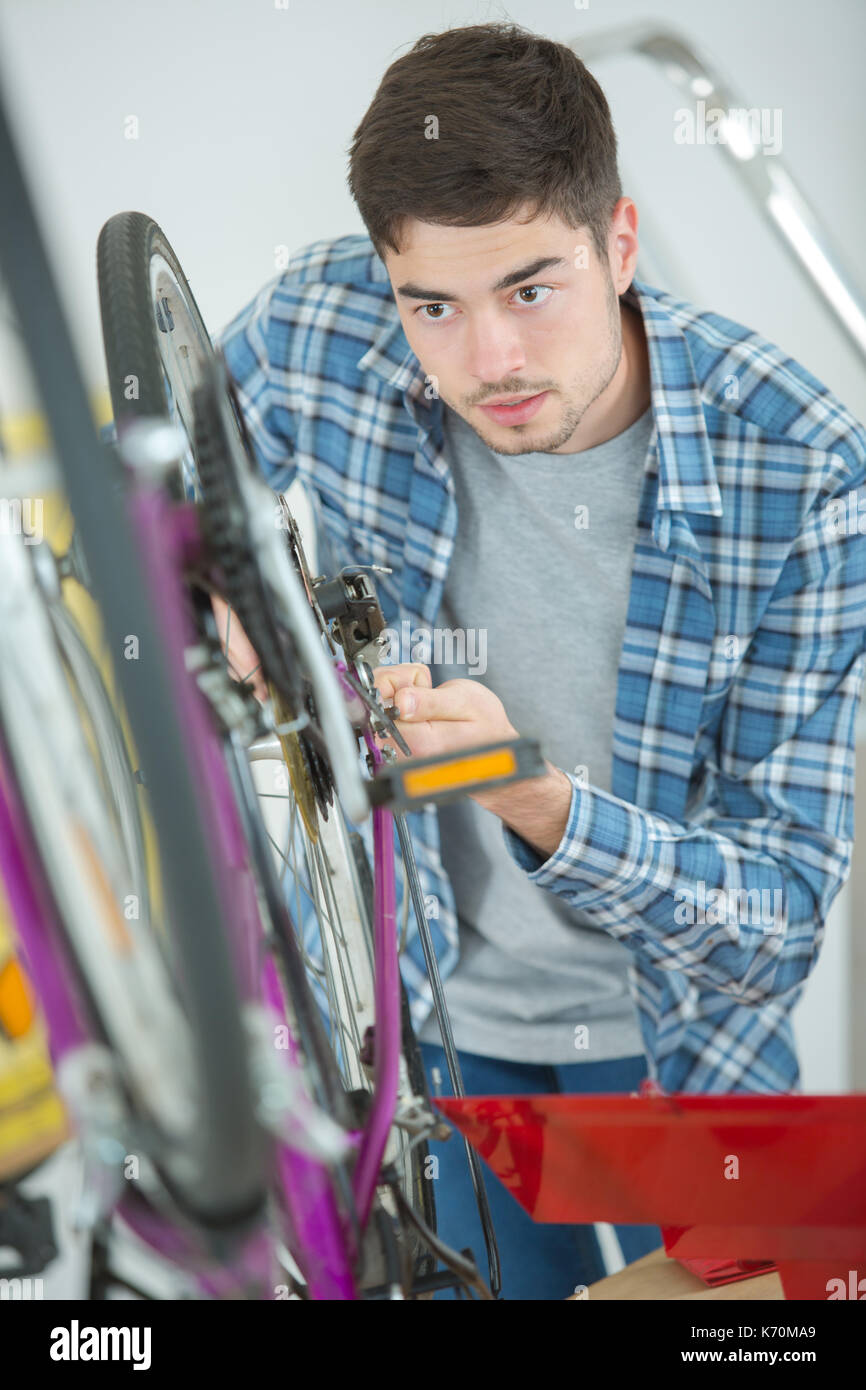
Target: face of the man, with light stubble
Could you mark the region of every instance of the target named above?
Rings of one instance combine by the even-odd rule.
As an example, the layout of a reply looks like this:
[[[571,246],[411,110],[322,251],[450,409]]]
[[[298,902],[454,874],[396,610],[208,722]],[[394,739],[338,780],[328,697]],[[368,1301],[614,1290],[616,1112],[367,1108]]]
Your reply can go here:
[[[546,217],[495,227],[413,218],[385,265],[424,373],[488,448],[574,452],[573,435],[617,374],[623,348],[610,264],[587,228]],[[538,399],[523,407],[491,409],[530,395]]]

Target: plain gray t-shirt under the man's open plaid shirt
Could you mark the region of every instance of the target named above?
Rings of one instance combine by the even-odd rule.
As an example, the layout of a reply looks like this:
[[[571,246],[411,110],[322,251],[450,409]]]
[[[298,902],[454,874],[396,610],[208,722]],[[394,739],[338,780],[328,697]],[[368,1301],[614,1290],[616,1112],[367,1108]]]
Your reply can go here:
[[[478,678],[552,763],[603,791],[652,430],[648,409],[592,449],[512,457],[445,407],[457,542],[435,627],[459,637],[439,656],[434,642],[434,685]],[[466,660],[446,663],[463,641]],[[457,906],[445,983],[457,1047],[548,1063],[642,1054],[627,947],[530,881],[499,817],[468,798],[438,816]],[[439,1042],[435,1017],[420,1037]]]

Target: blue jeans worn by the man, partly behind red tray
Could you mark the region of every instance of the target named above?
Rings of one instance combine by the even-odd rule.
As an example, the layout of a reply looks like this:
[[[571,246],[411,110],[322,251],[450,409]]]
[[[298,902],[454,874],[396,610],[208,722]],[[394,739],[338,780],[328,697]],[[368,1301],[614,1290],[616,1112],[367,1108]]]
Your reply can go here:
[[[421,1042],[427,1080],[434,1094],[431,1068],[438,1066],[442,1091],[450,1094],[445,1051]],[[569,1062],[544,1065],[506,1062],[500,1058],[460,1052],[467,1095],[589,1095],[637,1091],[646,1073],[644,1056],[612,1062]],[[439,1159],[436,1226],[441,1238],[455,1250],[471,1248],[487,1282],[487,1247],[478,1220],[475,1195],[460,1134],[445,1143],[431,1143]],[[484,1184],[502,1265],[502,1297],[524,1300],[566,1298],[575,1284],[591,1284],[606,1275],[594,1226],[534,1222],[506,1187],[482,1163]],[[614,1226],[626,1264],[648,1255],[663,1244],[657,1226]],[[453,1290],[439,1290],[435,1298],[453,1298]]]

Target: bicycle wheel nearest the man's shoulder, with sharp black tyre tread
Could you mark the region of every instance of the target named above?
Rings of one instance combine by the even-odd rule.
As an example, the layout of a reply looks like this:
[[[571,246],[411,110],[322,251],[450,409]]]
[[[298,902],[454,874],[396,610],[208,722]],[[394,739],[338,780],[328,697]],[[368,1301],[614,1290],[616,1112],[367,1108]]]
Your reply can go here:
[[[272,849],[284,867],[289,865],[292,876],[284,898],[296,908],[307,992],[325,1019],[342,1088],[357,1098],[371,1087],[371,1072],[364,1062],[364,1031],[374,1024],[370,909],[360,885],[356,848],[334,795],[327,739],[316,737],[310,688],[300,674],[303,663],[286,626],[274,617],[256,548],[243,535],[243,498],[231,471],[232,457],[246,459],[252,466],[243,418],[235,400],[232,410],[225,411],[213,393],[209,396],[215,354],[161,228],[140,213],[110,218],[100,232],[97,267],[118,434],[136,420],[154,416],[182,428],[188,449],[181,482],[185,495],[202,507],[210,552],[228,589],[222,596],[239,613],[261,657],[278,723],[303,726],[307,720],[306,727],[285,734],[275,749],[286,770],[285,802],[292,831],[285,845],[272,844]],[[225,406],[225,399],[221,404]],[[300,537],[288,507],[285,513],[288,553],[316,612]],[[316,962],[310,930],[320,944]],[[302,1012],[306,1012],[303,1004]],[[417,1087],[424,1081],[416,1051],[405,1011],[400,1104],[406,1116],[413,1094],[418,1094],[413,1083]],[[413,1059],[411,1077],[407,1056]],[[322,1084],[327,1091],[328,1083]],[[420,1097],[427,1101],[425,1091]],[[428,1223],[434,1222],[432,1184],[423,1177],[423,1145],[398,1127],[388,1158],[400,1172],[406,1198]]]

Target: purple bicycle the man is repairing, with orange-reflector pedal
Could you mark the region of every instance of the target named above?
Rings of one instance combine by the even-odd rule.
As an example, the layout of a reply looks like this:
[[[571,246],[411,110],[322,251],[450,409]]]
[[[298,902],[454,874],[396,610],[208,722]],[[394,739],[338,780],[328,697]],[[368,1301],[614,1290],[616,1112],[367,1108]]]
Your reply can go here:
[[[104,1255],[120,1216],[204,1297],[402,1298],[443,1283],[492,1297],[492,1233],[488,1289],[432,1225],[420,1158],[441,1122],[400,997],[393,833],[430,947],[406,809],[541,774],[539,749],[516,739],[453,759],[386,756],[378,739],[400,739],[368,662],[384,624],[370,575],[317,581],[285,503],[284,524],[272,524],[272,493],[163,234],[149,218],[125,222],[128,245],[135,232],[136,245],[158,247],[156,270],[175,297],[165,303],[168,282],[152,281],[150,257],[129,267],[125,322],[145,389],[135,409],[121,404],[132,398],[117,396],[106,332],[110,446],[89,417],[1,107],[0,175],[0,265],[79,537],[60,566],[18,537],[0,545],[4,594],[29,624],[7,641],[0,680],[0,870],[85,1144],[81,1219]],[[100,236],[108,297],[110,245]],[[188,329],[186,342],[172,339],[186,349],[177,359],[160,352],[167,310]],[[93,671],[64,657],[58,635],[64,566],[99,599],[120,687],[120,714],[97,696],[90,742],[75,688]],[[210,602],[220,587],[253,613],[264,705],[227,670]],[[118,719],[132,759],[121,756]],[[106,730],[110,795],[92,746]],[[292,858],[295,891],[307,891],[325,942],[318,976],[250,773],[250,760],[278,753],[291,845],[304,858]],[[368,878],[348,824],[367,817]],[[449,1048],[432,947],[428,967]],[[366,994],[364,1031],[353,992]],[[449,1056],[460,1094],[453,1042]],[[431,1272],[435,1261],[445,1273]]]

